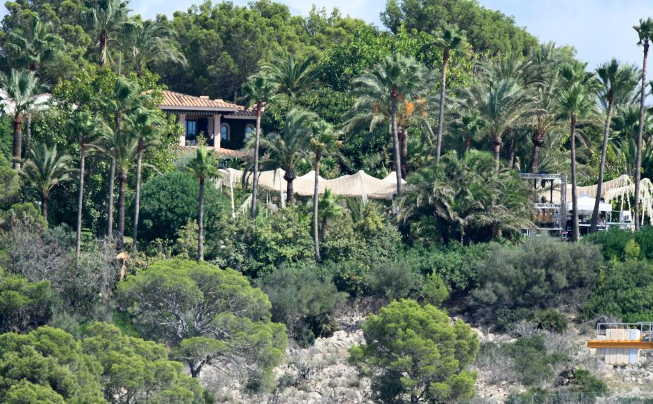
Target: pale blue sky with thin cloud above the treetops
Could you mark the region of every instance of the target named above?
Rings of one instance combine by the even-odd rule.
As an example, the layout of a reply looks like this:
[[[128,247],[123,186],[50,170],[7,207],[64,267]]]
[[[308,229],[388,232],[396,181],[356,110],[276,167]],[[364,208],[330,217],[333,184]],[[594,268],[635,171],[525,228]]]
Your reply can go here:
[[[203,0],[131,0],[131,8],[143,17],[156,14],[172,16],[175,10],[187,10]],[[214,0],[217,1],[217,0]],[[343,15],[364,19],[381,26],[379,13],[386,0],[276,0],[286,3],[292,13],[306,15],[315,3],[318,7],[337,7]],[[642,63],[642,49],[636,46],[632,26],[643,17],[653,17],[653,0],[478,0],[481,6],[512,15],[540,41],[572,45],[578,58],[593,69],[611,58]],[[246,5],[247,0],[233,0]],[[6,12],[0,10],[0,15]],[[650,68],[653,71],[653,63]]]

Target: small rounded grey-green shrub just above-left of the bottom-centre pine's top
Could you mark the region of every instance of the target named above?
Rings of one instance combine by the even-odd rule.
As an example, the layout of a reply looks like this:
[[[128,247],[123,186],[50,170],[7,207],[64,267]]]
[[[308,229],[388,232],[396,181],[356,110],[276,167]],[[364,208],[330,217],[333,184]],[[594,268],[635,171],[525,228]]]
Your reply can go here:
[[[385,261],[374,266],[365,280],[372,295],[388,300],[407,298],[420,284],[420,276],[413,273],[408,261]]]

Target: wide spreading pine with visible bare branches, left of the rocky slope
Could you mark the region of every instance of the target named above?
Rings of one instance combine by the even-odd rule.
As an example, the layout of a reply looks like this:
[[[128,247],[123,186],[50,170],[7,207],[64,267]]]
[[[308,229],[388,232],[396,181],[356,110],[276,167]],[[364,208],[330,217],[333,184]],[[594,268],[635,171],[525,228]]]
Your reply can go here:
[[[270,300],[235,270],[206,262],[160,261],[118,285],[122,306],[142,335],[174,348],[199,375],[205,364],[234,361],[267,382],[286,350],[283,324],[270,321]]]

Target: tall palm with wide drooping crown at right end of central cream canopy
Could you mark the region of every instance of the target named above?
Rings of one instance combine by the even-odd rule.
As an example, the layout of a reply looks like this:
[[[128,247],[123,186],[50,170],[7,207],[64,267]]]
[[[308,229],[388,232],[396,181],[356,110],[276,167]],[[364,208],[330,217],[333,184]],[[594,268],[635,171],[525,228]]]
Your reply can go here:
[[[361,104],[378,104],[390,110],[390,134],[395,157],[395,172],[397,172],[397,195],[402,193],[402,161],[397,130],[397,106],[400,99],[408,98],[419,90],[424,81],[424,68],[414,58],[406,58],[399,54],[386,56],[381,63],[354,80],[357,99],[354,108]]]

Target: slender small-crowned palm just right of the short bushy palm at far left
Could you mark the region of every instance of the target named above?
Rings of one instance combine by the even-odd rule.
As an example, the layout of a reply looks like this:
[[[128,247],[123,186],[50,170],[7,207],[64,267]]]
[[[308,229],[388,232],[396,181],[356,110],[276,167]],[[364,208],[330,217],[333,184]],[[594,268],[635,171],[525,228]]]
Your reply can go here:
[[[95,120],[93,115],[88,111],[80,111],[76,113],[75,117],[69,122],[69,130],[79,140],[79,190],[77,196],[77,229],[75,234],[75,254],[77,259],[79,259],[81,251],[86,147],[88,147],[89,141],[92,142],[94,134],[101,130],[98,129],[99,125],[101,125],[101,122]]]

